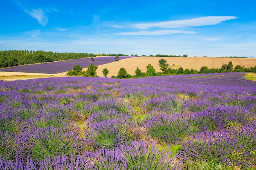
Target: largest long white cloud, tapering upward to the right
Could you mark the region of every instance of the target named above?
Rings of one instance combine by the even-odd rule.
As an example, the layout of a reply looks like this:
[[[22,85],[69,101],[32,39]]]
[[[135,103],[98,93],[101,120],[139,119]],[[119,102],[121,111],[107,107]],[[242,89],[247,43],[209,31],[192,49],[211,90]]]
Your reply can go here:
[[[137,24],[130,24],[133,28],[137,29],[149,29],[153,27],[158,28],[184,28],[191,26],[206,26],[206,25],[215,25],[226,20],[236,19],[236,16],[208,16],[193,18],[188,20],[174,20],[174,21],[165,21],[165,22],[140,22]]]

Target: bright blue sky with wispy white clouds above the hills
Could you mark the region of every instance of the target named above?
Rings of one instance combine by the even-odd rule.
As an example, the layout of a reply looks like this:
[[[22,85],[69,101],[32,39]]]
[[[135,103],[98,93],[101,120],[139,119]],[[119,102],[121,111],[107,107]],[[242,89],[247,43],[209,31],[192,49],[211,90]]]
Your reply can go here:
[[[256,57],[255,0],[3,0],[0,50]]]

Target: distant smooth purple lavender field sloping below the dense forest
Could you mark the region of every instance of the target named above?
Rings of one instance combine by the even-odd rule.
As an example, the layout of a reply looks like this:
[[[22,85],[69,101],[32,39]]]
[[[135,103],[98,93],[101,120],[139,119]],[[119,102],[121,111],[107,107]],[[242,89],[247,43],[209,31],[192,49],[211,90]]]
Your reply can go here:
[[[127,56],[119,56],[119,60],[129,58]],[[46,73],[46,74],[57,74],[70,71],[73,69],[74,65],[80,65],[86,68],[90,64],[96,66],[107,64],[110,62],[115,62],[115,57],[94,57],[94,61],[91,62],[91,58],[81,58],[73,60],[65,60],[58,62],[40,63],[40,64],[30,64],[24,66],[14,66],[8,68],[2,68],[0,71],[7,72],[23,72],[23,73]]]

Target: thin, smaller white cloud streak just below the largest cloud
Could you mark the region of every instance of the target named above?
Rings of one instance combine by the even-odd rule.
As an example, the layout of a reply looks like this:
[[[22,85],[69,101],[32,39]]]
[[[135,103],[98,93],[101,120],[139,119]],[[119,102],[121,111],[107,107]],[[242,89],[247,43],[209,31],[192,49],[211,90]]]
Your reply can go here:
[[[136,31],[136,32],[123,32],[117,35],[170,35],[170,34],[195,34],[195,31],[180,31],[180,30],[161,30],[161,31]]]

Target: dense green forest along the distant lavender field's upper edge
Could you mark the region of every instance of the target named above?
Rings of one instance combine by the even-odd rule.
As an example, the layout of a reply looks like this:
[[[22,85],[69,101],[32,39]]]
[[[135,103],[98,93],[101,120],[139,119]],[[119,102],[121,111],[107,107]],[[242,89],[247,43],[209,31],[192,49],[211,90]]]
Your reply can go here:
[[[53,53],[52,51],[5,50],[0,51],[0,68],[95,56],[96,55],[92,53]]]

